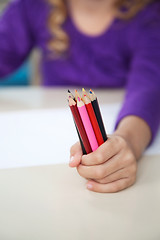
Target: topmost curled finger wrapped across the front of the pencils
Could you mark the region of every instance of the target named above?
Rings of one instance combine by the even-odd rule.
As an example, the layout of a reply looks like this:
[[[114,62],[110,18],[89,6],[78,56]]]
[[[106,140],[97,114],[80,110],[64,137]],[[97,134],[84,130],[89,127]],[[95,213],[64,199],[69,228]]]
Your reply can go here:
[[[99,165],[116,155],[125,145],[125,141],[117,136],[110,137],[99,148],[82,156],[82,164],[86,166]]]

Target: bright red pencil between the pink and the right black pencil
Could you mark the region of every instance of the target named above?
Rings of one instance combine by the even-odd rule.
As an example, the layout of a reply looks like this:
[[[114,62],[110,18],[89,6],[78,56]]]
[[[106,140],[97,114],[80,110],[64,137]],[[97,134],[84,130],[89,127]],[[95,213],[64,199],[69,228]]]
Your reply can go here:
[[[91,100],[84,94],[83,95],[83,101],[85,103],[85,106],[86,106],[86,109],[87,109],[87,112],[88,112],[93,130],[94,130],[94,133],[96,135],[98,145],[100,146],[104,143],[104,140],[103,140],[103,137],[102,137],[101,130],[99,128],[99,124],[98,124],[94,109],[92,107]]]

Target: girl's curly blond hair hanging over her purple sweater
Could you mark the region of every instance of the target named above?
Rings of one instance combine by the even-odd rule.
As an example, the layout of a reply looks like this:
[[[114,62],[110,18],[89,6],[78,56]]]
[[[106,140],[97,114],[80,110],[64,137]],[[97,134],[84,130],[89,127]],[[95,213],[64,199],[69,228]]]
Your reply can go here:
[[[130,19],[153,1],[154,0],[115,0],[114,7],[117,9],[118,18]],[[51,5],[48,27],[53,36],[48,43],[48,48],[50,51],[57,53],[57,55],[61,55],[69,48],[69,36],[62,28],[67,18],[67,7],[65,0],[48,0],[48,2]]]

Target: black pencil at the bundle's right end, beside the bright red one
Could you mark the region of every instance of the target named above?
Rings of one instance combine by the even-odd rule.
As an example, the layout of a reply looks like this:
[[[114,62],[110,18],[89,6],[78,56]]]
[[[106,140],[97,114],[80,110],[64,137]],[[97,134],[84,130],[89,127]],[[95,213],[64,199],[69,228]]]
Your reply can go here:
[[[90,93],[91,103],[92,103],[92,106],[93,106],[93,109],[94,109],[94,112],[95,112],[100,130],[101,130],[101,133],[102,133],[102,136],[103,136],[103,140],[105,142],[107,140],[107,134],[106,134],[106,131],[105,131],[105,128],[104,128],[104,124],[103,124],[102,115],[101,115],[101,112],[100,112],[98,100],[97,100],[97,97],[96,97],[95,93],[91,89],[90,89],[89,93]]]

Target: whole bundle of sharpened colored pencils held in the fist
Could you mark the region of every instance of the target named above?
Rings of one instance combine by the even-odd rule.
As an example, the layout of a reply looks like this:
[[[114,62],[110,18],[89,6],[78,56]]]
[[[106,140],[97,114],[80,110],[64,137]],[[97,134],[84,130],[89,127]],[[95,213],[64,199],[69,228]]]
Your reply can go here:
[[[83,154],[95,151],[107,140],[99,104],[95,93],[82,89],[82,97],[68,90],[68,103],[77,129]]]

